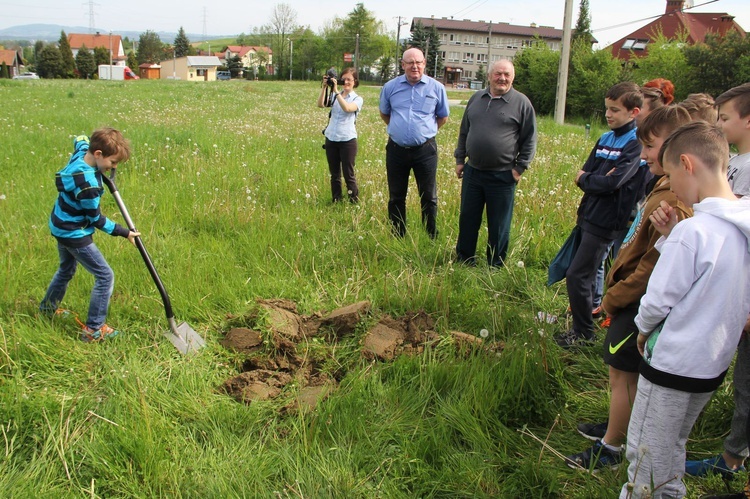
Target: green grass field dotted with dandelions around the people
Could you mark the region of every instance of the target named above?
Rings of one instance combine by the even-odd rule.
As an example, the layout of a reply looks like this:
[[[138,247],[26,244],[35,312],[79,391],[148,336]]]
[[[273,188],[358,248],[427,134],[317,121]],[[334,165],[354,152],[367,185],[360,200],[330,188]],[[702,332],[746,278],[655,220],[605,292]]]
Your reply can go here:
[[[546,267],[574,223],[573,175],[602,131],[540,120],[536,159],[517,190],[508,265],[456,266],[460,181],[452,152],[462,109],[438,134],[440,235],[386,215],[379,89],[360,87],[359,205],[332,205],[321,149],[327,112],[315,83],[0,80],[0,495],[5,497],[616,497],[626,470],[568,469],[606,418],[597,348],[562,352],[564,287]],[[451,93],[466,99],[466,93]],[[57,268],[47,219],[72,137],[121,129],[133,146],[121,195],[169,290],[178,320],[208,342],[183,357],[137,250],[98,234],[116,274],[108,322],[123,334],[83,344],[75,323],[37,313]],[[105,214],[122,222],[111,196]],[[480,245],[486,235],[480,235]],[[480,252],[481,252],[480,248]],[[78,273],[64,306],[85,315]],[[360,355],[366,328],[332,347],[338,389],[314,411],[281,411],[298,387],[243,405],[219,390],[244,358],[218,341],[257,299],[304,314],[360,300],[379,316],[424,310],[441,341],[393,362]],[[502,342],[457,348],[449,331]],[[599,333],[602,334],[601,332]],[[717,391],[689,442],[721,449],[731,388]],[[545,442],[542,444],[541,442]],[[746,477],[736,480],[734,488]],[[689,497],[723,491],[687,480]]]

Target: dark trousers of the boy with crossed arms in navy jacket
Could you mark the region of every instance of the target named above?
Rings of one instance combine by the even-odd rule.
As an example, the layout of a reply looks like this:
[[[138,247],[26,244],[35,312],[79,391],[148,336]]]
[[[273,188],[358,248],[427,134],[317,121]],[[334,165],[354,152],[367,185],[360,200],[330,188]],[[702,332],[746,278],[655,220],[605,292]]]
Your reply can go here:
[[[611,237],[599,237],[582,229],[581,245],[565,274],[573,331],[585,338],[591,338],[594,333],[594,320],[591,317],[594,280],[612,240]]]

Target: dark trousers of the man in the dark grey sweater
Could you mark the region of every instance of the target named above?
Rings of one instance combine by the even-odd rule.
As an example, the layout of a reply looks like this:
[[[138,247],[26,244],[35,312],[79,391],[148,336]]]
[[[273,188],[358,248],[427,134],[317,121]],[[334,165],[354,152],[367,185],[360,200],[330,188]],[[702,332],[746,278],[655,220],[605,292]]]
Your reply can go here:
[[[476,262],[482,211],[487,207],[487,263],[501,267],[510,241],[516,180],[513,172],[483,171],[464,165],[461,213],[458,217],[456,255],[459,261]]]

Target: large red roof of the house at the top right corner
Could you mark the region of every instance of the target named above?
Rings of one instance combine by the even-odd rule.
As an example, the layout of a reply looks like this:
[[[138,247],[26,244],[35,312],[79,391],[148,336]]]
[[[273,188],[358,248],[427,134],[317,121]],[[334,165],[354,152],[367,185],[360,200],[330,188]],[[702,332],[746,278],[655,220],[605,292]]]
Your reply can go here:
[[[745,30],[734,21],[734,16],[726,12],[685,12],[685,4],[685,0],[667,0],[667,8],[661,17],[610,45],[612,55],[623,61],[643,57],[648,53],[648,44],[659,32],[668,39],[684,34],[686,42],[691,45],[702,42],[709,33],[725,35],[735,30],[745,36]]]

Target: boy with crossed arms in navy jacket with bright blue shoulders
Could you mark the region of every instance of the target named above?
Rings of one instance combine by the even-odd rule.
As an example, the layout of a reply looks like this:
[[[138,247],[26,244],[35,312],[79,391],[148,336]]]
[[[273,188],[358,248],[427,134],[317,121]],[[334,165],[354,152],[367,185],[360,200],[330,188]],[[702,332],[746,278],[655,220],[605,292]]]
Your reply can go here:
[[[648,166],[641,165],[635,135],[635,117],[643,105],[640,87],[618,83],[607,91],[604,105],[611,131],[599,138],[575,178],[583,191],[576,221],[581,243],[565,275],[573,327],[555,338],[563,348],[593,342],[596,272],[612,241],[627,230],[630,214],[652,178]]]

